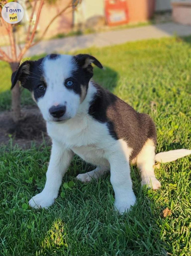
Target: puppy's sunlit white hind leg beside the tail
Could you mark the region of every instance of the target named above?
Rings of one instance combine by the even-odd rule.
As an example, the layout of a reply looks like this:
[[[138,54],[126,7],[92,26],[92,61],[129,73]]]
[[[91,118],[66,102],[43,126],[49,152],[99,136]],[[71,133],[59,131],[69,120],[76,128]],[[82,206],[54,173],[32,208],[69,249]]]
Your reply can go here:
[[[141,185],[148,185],[149,188],[160,188],[160,182],[156,179],[154,173],[155,164],[155,144],[148,139],[141,152],[137,156],[137,167],[141,173]]]

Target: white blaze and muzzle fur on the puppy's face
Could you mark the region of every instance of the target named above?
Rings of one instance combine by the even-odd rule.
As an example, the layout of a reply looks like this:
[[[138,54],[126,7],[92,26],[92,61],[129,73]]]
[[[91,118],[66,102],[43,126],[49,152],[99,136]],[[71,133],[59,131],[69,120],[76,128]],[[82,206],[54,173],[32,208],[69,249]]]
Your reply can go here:
[[[42,69],[47,88],[45,95],[38,99],[37,105],[42,112],[43,118],[46,121],[54,121],[49,109],[59,104],[66,106],[64,120],[73,118],[80,105],[80,96],[64,86],[65,79],[69,78],[71,72],[76,69],[72,56],[60,55],[52,60],[45,58],[42,62]]]

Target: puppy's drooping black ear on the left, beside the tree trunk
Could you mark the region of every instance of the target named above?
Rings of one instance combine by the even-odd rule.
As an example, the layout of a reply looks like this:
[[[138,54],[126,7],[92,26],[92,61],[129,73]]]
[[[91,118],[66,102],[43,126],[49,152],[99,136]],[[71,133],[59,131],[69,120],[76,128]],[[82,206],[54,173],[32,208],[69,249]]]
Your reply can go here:
[[[11,76],[11,83],[12,83],[11,89],[15,86],[17,81],[20,81],[21,85],[26,88],[25,82],[26,82],[27,77],[30,74],[31,62],[32,61],[29,61],[29,60],[24,61],[18,67],[18,69],[15,72],[12,73],[12,76]]]

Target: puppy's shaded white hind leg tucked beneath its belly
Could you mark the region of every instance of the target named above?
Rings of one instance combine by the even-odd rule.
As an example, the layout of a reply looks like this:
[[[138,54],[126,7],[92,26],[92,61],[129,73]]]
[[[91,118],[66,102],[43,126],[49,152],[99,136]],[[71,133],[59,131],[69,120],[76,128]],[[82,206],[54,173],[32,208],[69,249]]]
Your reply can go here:
[[[109,168],[105,166],[97,166],[94,170],[87,173],[78,174],[76,177],[77,179],[81,180],[82,182],[90,182],[92,178],[98,179],[104,173],[108,172]]]

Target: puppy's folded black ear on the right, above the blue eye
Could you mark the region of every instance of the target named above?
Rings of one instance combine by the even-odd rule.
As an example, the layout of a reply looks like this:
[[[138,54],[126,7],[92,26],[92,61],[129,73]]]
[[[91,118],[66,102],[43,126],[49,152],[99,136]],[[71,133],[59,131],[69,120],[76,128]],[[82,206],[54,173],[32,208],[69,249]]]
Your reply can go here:
[[[93,71],[92,63],[94,63],[98,68],[103,68],[101,63],[89,54],[78,54],[75,56],[75,59],[82,68],[87,68],[89,71]]]

